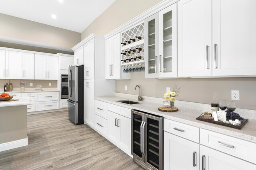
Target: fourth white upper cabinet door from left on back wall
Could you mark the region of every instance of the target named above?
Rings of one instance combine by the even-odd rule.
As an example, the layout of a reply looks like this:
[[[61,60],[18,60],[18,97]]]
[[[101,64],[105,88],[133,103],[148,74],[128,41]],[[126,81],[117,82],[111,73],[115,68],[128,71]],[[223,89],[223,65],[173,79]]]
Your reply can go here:
[[[35,54],[35,80],[47,79],[47,56]]]

